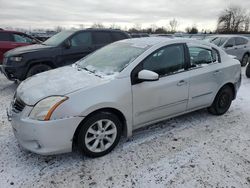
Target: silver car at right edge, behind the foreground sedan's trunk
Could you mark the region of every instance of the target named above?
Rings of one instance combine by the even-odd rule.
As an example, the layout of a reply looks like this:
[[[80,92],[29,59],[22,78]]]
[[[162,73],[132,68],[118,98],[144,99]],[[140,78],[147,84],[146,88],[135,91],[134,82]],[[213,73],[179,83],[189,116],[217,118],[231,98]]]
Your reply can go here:
[[[217,35],[211,42],[236,56],[241,66],[246,66],[250,57],[250,40],[240,35]]]

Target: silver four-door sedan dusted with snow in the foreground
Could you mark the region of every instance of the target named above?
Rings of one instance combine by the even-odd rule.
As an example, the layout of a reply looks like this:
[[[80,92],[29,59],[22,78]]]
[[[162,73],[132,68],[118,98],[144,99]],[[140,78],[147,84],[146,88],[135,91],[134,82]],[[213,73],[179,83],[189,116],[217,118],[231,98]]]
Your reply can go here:
[[[140,127],[207,107],[224,114],[240,82],[240,62],[213,44],[128,39],[28,78],[8,117],[27,150],[48,155],[77,146],[99,157]]]

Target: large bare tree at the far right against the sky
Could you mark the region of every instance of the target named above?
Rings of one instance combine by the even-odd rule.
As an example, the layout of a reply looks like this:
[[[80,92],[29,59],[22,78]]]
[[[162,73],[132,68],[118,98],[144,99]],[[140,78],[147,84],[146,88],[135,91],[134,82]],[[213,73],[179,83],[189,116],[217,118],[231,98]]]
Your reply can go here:
[[[222,33],[237,33],[249,25],[247,11],[239,6],[226,8],[218,18],[217,31]]]

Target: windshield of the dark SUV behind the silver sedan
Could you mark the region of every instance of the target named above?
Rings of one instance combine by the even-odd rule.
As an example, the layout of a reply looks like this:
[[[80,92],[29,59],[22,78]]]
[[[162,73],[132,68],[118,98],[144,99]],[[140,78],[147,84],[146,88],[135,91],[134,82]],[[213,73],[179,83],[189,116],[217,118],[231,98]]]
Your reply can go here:
[[[72,35],[72,33],[73,31],[62,31],[50,37],[48,40],[44,41],[42,44],[47,45],[47,46],[58,46],[64,40],[66,40],[70,35]]]

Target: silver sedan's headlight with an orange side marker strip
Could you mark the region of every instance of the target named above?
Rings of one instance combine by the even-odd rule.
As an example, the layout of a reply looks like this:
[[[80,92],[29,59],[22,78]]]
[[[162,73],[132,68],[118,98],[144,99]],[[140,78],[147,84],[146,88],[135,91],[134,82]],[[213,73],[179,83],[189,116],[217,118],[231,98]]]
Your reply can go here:
[[[48,121],[55,109],[68,97],[53,96],[39,101],[30,112],[29,117],[35,120]]]

